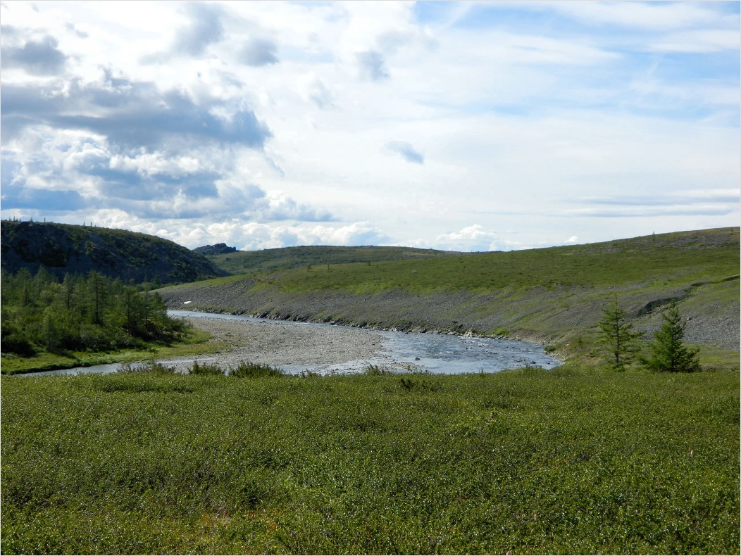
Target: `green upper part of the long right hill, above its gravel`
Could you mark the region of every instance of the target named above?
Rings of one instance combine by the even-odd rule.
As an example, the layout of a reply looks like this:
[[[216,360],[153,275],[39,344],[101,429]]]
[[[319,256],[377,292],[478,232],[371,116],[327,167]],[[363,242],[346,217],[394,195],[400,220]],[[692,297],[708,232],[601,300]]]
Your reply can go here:
[[[348,289],[369,294],[532,287],[622,286],[656,281],[655,287],[720,280],[738,274],[738,228],[679,232],[631,240],[548,249],[459,254],[371,265],[292,269],[270,276],[285,291]],[[660,278],[660,280],[658,280]]]

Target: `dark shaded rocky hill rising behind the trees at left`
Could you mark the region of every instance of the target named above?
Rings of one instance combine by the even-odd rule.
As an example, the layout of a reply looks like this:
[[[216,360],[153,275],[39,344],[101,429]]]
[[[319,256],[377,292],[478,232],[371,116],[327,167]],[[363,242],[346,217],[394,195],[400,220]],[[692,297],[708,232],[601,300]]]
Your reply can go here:
[[[124,281],[192,282],[225,275],[207,258],[173,241],[126,230],[51,222],[2,221],[3,270],[47,269],[64,276],[94,270]]]

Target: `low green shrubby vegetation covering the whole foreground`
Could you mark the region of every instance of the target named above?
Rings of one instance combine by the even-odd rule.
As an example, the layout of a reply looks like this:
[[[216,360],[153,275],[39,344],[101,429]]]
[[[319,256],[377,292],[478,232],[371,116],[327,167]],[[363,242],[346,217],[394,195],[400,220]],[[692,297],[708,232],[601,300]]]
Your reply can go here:
[[[737,372],[1,378],[4,554],[738,554]]]

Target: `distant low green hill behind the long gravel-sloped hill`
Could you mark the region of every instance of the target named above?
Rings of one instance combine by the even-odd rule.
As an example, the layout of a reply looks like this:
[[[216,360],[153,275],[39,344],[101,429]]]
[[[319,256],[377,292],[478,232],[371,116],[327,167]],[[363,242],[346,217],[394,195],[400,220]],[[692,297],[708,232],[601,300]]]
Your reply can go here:
[[[197,250],[197,249],[196,249]],[[458,255],[453,251],[414,249],[413,247],[329,247],[305,246],[237,251],[207,255],[217,267],[230,274],[258,274],[327,264],[376,263],[407,259],[437,258]]]

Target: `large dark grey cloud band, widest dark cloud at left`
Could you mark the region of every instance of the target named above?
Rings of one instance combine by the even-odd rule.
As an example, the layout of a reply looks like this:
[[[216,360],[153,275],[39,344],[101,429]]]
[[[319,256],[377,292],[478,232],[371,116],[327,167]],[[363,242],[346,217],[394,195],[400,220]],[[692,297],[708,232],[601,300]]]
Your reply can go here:
[[[130,150],[204,140],[259,149],[272,135],[246,107],[199,105],[177,90],[161,92],[150,82],[110,76],[91,84],[6,84],[0,96],[2,126],[11,137],[32,126],[87,130]]]

